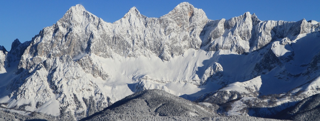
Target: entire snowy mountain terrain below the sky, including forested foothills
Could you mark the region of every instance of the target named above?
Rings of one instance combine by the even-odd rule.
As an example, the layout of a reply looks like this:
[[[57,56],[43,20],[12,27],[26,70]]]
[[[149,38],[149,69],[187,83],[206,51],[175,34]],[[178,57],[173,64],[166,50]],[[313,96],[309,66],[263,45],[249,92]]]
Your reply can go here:
[[[0,120],[317,120],[319,46],[314,20],[210,20],[184,2],[107,23],[78,4],[0,46]]]

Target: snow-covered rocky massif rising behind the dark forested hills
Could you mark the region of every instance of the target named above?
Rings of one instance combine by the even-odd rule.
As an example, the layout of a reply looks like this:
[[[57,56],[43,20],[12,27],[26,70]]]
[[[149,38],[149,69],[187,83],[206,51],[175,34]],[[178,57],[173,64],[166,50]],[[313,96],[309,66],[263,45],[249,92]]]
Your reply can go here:
[[[1,49],[0,103],[80,119],[144,89],[195,99],[232,84],[250,96],[302,85],[311,95],[306,82],[319,76],[319,26],[305,19],[260,21],[249,12],[209,20],[186,2],[160,18],[133,7],[107,23],[76,5],[31,41],[16,39],[10,52]],[[262,86],[250,81],[257,77]],[[289,83],[295,84],[277,89]],[[218,92],[225,91],[239,90]],[[248,96],[242,92],[235,94]]]

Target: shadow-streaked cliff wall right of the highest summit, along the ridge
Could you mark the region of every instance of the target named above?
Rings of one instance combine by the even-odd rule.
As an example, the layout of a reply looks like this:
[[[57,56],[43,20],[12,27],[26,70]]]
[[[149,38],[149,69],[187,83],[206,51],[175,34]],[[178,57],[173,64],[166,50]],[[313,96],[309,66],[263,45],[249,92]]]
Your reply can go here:
[[[229,20],[210,20],[204,27],[203,44],[207,51],[230,50],[242,54],[260,49],[278,38],[315,32],[318,26],[305,19],[298,22],[260,21],[249,12]]]

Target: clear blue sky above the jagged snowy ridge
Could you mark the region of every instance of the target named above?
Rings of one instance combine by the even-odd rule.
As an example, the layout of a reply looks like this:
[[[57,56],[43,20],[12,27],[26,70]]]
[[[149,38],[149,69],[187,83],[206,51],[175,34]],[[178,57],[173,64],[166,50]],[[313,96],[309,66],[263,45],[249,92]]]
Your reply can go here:
[[[320,1],[303,0],[0,0],[0,45],[8,51],[14,39],[30,41],[44,27],[56,23],[76,4],[102,18],[115,22],[135,6],[147,17],[161,17],[181,2],[203,9],[212,20],[230,19],[249,11],[260,20],[320,21]]]

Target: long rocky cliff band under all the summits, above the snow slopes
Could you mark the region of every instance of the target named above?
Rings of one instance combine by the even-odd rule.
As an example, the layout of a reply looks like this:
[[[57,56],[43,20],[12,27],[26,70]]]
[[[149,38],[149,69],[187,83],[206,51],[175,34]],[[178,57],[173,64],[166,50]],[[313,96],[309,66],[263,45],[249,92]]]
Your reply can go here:
[[[189,48],[234,53],[248,53],[277,38],[314,32],[306,20],[298,22],[260,21],[249,12],[229,20],[209,20],[204,11],[181,3],[160,18],[148,18],[131,8],[123,18],[106,23],[86,11],[71,7],[54,25],[33,38],[21,61],[41,56],[70,55],[79,59],[85,54],[103,58],[159,56],[168,61]],[[28,68],[28,65],[21,65]]]

